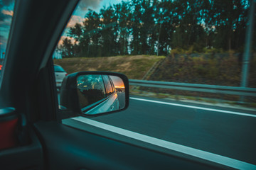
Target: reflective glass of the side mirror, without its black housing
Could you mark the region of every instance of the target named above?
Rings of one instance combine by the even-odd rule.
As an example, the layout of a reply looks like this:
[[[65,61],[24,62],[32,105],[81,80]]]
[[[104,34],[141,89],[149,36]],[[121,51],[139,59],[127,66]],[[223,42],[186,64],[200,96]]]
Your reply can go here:
[[[125,106],[124,82],[119,77],[81,75],[77,84],[80,109],[86,115],[119,111]]]

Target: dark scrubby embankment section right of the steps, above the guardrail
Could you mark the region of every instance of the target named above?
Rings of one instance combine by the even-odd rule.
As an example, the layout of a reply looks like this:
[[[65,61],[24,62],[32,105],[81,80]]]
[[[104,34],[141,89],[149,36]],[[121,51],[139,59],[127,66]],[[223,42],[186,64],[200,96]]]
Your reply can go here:
[[[242,55],[170,55],[161,62],[150,80],[191,84],[240,86]],[[249,86],[256,87],[256,55],[250,62]]]

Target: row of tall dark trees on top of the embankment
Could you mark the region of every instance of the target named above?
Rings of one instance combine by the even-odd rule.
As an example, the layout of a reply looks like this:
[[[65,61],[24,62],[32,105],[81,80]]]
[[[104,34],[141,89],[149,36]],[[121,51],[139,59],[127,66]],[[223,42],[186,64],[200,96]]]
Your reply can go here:
[[[249,7],[249,0],[122,1],[98,13],[89,10],[59,50],[62,57],[241,52]]]

